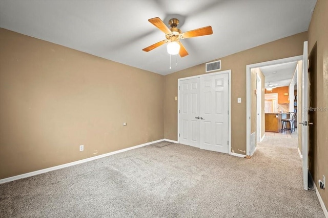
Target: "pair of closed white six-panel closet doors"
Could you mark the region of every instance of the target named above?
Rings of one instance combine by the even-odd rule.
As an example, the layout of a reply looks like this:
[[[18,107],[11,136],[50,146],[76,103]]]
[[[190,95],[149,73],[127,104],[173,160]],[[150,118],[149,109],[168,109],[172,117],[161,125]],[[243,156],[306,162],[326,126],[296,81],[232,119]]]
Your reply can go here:
[[[228,74],[179,82],[180,143],[228,153]]]

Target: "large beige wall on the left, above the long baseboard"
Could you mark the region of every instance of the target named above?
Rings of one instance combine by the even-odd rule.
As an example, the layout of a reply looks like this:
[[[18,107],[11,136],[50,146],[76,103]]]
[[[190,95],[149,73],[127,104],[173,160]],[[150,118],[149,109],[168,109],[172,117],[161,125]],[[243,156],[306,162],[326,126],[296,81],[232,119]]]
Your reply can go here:
[[[0,48],[0,179],[163,138],[163,76],[5,29]]]

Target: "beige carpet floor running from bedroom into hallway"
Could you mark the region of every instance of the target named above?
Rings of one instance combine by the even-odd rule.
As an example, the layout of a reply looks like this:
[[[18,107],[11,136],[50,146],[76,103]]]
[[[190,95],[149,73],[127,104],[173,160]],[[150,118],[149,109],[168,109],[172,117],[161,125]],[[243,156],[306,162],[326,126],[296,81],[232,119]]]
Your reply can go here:
[[[1,217],[324,217],[295,148],[147,146],[0,185]]]

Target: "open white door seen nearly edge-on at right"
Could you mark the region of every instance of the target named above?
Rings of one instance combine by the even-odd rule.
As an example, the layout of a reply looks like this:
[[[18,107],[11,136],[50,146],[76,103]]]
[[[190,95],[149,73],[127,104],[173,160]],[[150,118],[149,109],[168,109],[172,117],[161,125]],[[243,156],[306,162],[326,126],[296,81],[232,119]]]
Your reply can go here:
[[[302,156],[303,156],[303,188],[308,190],[308,99],[309,99],[309,74],[308,74],[308,41],[303,45],[302,60]]]

